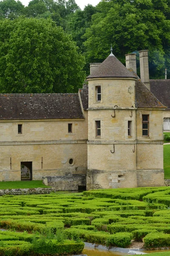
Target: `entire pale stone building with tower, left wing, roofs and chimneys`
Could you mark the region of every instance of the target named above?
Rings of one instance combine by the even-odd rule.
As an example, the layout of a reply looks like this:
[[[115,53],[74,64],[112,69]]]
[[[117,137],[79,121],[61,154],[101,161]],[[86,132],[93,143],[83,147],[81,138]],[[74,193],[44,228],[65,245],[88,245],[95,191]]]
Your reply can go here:
[[[164,186],[163,113],[148,52],[91,64],[78,93],[0,94],[0,181],[58,190]]]

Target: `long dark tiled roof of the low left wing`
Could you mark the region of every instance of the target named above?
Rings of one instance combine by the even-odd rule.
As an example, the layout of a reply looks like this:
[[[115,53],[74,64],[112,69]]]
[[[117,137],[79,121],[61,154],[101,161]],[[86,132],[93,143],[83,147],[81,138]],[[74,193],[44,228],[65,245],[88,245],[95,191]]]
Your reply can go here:
[[[0,94],[0,119],[84,118],[78,93]]]

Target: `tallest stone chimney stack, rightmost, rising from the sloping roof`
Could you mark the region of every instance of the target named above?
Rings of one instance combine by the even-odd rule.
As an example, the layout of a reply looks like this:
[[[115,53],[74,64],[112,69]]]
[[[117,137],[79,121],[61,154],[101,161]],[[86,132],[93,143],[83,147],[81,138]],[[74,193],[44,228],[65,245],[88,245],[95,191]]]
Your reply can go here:
[[[139,51],[141,81],[150,90],[148,50]]]

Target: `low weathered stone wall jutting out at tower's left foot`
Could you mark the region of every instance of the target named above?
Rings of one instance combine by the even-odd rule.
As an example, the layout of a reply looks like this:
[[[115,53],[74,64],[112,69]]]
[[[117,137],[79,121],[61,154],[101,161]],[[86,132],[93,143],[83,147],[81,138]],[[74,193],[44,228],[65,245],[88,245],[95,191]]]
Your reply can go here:
[[[42,177],[46,186],[52,186],[57,191],[79,190],[79,186],[86,186],[86,175],[64,175]]]

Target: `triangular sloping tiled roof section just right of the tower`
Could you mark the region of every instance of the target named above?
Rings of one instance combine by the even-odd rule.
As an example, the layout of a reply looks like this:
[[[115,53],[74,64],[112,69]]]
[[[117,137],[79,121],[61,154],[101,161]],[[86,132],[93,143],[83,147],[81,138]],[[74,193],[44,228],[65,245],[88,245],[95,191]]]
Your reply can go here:
[[[136,107],[137,108],[166,108],[154,95],[147,89],[140,79],[136,80]]]

